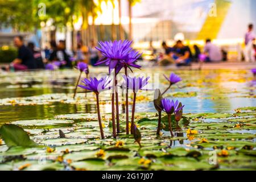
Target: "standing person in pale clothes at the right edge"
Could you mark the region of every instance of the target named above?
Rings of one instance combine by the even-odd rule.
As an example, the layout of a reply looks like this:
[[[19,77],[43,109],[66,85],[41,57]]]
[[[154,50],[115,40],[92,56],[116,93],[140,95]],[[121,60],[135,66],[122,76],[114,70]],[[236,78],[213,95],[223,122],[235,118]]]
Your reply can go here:
[[[245,50],[243,52],[245,61],[255,61],[255,51],[253,49],[253,41],[255,40],[255,34],[253,32],[253,24],[249,24],[248,31],[245,34]]]

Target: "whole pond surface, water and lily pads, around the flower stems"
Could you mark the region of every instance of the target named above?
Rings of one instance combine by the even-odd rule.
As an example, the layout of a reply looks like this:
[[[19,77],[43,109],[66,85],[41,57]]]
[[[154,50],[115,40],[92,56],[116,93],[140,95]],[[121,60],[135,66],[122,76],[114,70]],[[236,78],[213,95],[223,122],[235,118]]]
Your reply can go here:
[[[92,77],[106,72],[107,68],[90,68]],[[171,72],[183,80],[164,97],[185,105],[179,123],[172,119],[174,137],[164,113],[156,135],[158,115],[153,105],[154,89],[163,92],[168,88],[163,74]],[[86,93],[85,97],[79,88],[73,99],[77,71],[0,73],[0,171],[255,170],[256,81],[250,70],[143,68],[134,74],[150,76],[150,90],[137,93],[135,108],[134,122],[141,133],[142,147],[134,142],[134,135],[126,135],[125,114],[120,115],[121,132],[117,139],[112,137],[108,92],[100,94],[105,135],[100,139],[94,93]],[[119,79],[121,83],[121,74]],[[125,113],[124,101],[119,89],[119,113]],[[130,93],[130,110],[132,102]],[[6,122],[14,125],[3,125]],[[23,143],[25,148],[11,146],[6,139],[20,138],[13,137],[16,134],[31,139]],[[31,146],[27,148],[27,144]],[[218,164],[209,163],[212,152]]]

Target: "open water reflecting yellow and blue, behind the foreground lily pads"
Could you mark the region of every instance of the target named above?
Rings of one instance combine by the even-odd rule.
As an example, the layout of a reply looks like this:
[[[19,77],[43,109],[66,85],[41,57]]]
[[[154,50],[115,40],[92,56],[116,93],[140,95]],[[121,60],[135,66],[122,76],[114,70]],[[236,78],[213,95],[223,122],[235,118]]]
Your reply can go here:
[[[106,72],[104,68],[93,68],[92,76]],[[161,90],[167,88],[162,73],[170,74],[172,70],[147,68],[146,72],[137,71],[135,74],[151,76],[152,86],[158,84]],[[175,71],[183,78],[178,86],[167,92],[168,98],[174,98],[185,104],[184,113],[234,113],[238,107],[256,106],[255,86],[249,70],[230,71]],[[155,73],[155,75],[153,75]],[[0,77],[0,100],[3,98],[41,96],[51,93],[72,94],[77,72],[73,70],[55,72],[5,73]],[[158,79],[156,83],[156,79]],[[34,82],[32,86],[27,83]],[[180,88],[181,87],[181,88]],[[177,93],[176,96],[171,93]],[[182,93],[188,93],[182,94]],[[92,93],[88,93],[92,94]],[[148,92],[146,94],[153,94]],[[147,95],[146,95],[147,96]],[[121,97],[121,100],[123,97]],[[109,113],[110,105],[101,106],[101,110]],[[125,108],[120,105],[121,112]],[[130,106],[131,110],[131,106]],[[154,112],[152,100],[138,102],[137,112]],[[46,105],[0,105],[0,123],[18,119],[45,119],[59,114],[96,113],[96,105],[64,104],[51,102]]]

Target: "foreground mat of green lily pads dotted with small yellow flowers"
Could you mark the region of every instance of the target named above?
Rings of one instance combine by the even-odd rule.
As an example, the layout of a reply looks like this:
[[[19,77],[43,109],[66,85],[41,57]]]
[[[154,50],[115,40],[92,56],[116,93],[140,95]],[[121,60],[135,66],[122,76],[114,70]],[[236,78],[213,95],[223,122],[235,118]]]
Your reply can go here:
[[[156,113],[135,113],[142,147],[133,135],[126,135],[125,115],[120,115],[117,139],[108,127],[110,114],[102,119],[105,139],[99,138],[96,115],[17,121],[0,129],[0,170],[254,170],[255,108],[240,110],[184,114],[179,127],[174,123],[174,138],[166,130],[166,115],[156,137]],[[65,138],[60,138],[59,130]]]

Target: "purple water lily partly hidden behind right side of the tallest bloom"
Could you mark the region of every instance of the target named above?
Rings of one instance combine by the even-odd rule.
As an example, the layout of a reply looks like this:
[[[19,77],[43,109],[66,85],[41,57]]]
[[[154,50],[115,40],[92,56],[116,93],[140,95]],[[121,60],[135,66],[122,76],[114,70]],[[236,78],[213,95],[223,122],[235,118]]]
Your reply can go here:
[[[139,53],[138,51],[132,50],[129,53],[129,58],[127,60],[120,60],[120,61],[118,61],[115,73],[119,73],[119,71],[121,71],[121,69],[123,67],[126,67],[126,68],[133,67],[133,68],[138,68],[138,69],[141,68],[140,65],[135,64],[135,62],[137,61],[137,59],[141,55],[142,55],[142,53]]]

